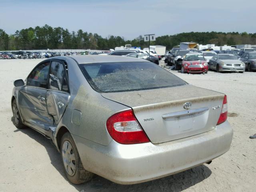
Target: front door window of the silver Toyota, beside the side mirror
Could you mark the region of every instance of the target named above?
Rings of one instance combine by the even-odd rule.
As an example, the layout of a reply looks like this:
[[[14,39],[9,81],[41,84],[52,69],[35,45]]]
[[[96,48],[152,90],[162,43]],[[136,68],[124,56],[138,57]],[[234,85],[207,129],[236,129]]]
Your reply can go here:
[[[38,65],[28,76],[27,86],[48,88],[47,79],[49,74],[50,62]]]

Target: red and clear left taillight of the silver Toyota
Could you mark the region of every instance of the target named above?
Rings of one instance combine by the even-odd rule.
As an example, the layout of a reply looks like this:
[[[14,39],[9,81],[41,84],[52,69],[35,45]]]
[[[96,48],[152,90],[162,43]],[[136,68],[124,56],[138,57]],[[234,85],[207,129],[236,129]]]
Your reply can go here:
[[[116,113],[106,122],[110,136],[120,144],[138,144],[149,142],[132,110]]]

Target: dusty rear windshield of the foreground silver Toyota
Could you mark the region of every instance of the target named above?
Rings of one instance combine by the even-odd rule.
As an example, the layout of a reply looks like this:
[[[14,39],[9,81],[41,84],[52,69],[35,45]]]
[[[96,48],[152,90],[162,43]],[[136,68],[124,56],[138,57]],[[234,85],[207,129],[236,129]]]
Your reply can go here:
[[[92,88],[98,92],[148,90],[186,84],[152,62],[108,62],[79,66]]]

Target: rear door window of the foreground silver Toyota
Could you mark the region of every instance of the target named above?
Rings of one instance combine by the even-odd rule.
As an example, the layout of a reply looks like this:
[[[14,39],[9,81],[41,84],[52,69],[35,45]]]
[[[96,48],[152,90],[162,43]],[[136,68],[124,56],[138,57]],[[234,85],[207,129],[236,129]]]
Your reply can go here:
[[[62,63],[52,61],[49,82],[50,89],[52,90],[68,91],[67,78]]]

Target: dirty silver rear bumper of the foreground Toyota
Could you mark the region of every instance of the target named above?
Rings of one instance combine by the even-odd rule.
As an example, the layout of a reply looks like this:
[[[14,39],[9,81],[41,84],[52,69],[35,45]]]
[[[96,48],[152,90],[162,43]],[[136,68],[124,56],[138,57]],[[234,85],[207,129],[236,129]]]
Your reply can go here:
[[[163,144],[101,146],[73,136],[84,168],[119,184],[135,184],[208,162],[230,148],[233,130],[226,121],[212,131]]]

